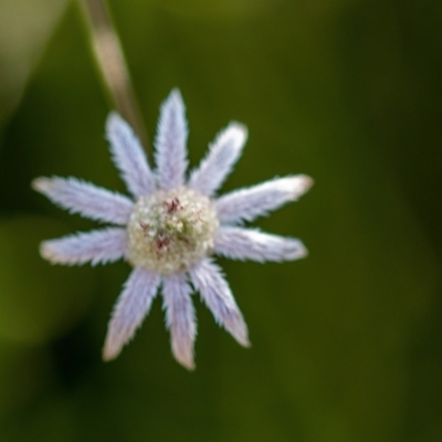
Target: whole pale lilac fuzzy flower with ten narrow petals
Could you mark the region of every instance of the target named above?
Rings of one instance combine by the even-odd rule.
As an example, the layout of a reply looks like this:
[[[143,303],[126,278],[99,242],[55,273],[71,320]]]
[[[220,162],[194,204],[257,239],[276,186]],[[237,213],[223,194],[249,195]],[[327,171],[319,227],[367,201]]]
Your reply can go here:
[[[76,178],[36,178],[32,183],[63,209],[113,224],[44,241],[43,257],[67,265],[124,259],[134,267],[112,313],[104,360],[116,358],[133,338],[160,285],[172,352],[181,365],[194,367],[192,291],[200,293],[217,323],[248,347],[248,327],[212,254],[259,262],[305,256],[301,241],[242,224],[296,200],[312,186],[312,179],[304,175],[275,178],[215,198],[248,137],[243,125],[231,123],[186,181],[188,130],[177,90],[160,109],[156,171],[131,128],[115,113],[107,119],[106,135],[131,198]]]

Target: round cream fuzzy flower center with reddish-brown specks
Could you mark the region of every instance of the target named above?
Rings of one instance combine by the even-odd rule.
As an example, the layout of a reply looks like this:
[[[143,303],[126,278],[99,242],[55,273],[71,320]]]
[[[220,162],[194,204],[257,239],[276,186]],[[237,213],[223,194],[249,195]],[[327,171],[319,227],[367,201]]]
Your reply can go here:
[[[140,197],[127,225],[128,261],[159,274],[183,272],[213,248],[219,221],[210,199],[188,188]]]

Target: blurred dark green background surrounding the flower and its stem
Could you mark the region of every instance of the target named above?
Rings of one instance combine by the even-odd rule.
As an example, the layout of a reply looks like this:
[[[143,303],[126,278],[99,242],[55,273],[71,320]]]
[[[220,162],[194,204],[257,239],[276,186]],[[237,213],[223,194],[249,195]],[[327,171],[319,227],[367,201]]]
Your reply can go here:
[[[178,86],[192,165],[231,119],[249,126],[224,191],[315,179],[257,222],[299,236],[311,255],[220,260],[251,349],[196,297],[198,368],[186,371],[157,299],[103,364],[129,269],[41,260],[42,239],[96,224],[30,181],[75,176],[124,191],[103,138],[110,105],[76,4],[0,0],[0,440],[441,441],[442,2],[110,7],[150,137]]]

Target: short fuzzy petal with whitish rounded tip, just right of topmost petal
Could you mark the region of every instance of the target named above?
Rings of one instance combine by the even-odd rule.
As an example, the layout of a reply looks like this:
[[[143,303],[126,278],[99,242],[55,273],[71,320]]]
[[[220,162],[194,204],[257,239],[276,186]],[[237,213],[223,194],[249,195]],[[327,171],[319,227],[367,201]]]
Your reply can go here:
[[[246,139],[246,127],[231,123],[210,145],[209,154],[190,176],[189,187],[208,197],[212,196],[232,170]]]

